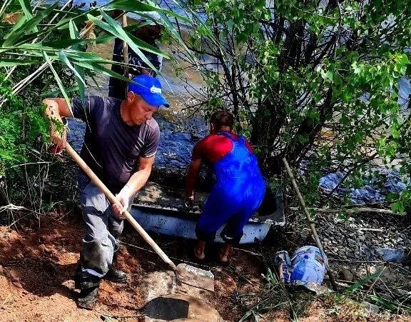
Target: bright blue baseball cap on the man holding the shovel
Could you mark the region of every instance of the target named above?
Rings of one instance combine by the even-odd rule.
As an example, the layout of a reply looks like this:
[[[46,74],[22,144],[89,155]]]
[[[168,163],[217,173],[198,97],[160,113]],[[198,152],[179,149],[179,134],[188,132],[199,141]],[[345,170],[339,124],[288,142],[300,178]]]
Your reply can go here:
[[[139,75],[132,81],[136,84],[128,84],[128,91],[140,95],[150,105],[170,107],[168,101],[161,95],[161,83],[158,79],[148,75]]]

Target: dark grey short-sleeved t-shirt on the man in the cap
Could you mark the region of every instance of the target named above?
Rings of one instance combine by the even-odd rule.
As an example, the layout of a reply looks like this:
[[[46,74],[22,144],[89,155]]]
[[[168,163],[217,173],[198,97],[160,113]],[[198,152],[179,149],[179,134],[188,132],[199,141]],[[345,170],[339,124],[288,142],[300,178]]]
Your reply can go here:
[[[98,178],[117,193],[138,169],[138,159],[154,156],[160,130],[155,119],[128,126],[121,119],[121,101],[86,96],[72,100],[73,116],[86,122],[81,157]]]

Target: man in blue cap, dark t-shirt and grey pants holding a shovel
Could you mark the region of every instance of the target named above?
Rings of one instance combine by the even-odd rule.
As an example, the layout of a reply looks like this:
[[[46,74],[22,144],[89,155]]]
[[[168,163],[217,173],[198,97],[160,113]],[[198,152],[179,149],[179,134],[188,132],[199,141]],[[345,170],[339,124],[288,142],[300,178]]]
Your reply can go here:
[[[45,99],[46,115],[51,119],[51,140],[56,150],[66,147],[66,131],[58,131],[62,117],[86,122],[81,157],[115,193],[123,208],[110,205],[103,193],[85,173],[78,173],[78,191],[83,210],[85,236],[80,261],[74,276],[80,290],[77,305],[92,309],[101,278],[126,283],[126,273],[116,269],[118,237],[123,231],[123,209],[144,186],[154,162],[160,131],[153,113],[168,107],[161,95],[158,79],[141,75],[128,86],[126,99],[86,96],[71,101]]]

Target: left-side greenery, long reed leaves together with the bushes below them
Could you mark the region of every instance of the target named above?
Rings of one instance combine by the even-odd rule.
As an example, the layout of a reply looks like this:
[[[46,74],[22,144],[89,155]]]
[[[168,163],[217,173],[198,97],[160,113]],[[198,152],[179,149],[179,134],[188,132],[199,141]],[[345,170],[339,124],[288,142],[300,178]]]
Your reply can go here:
[[[155,22],[163,25],[163,34],[185,47],[168,17],[186,18],[151,1],[133,1],[131,6],[129,1],[113,0],[85,11],[71,7],[60,10],[58,1],[51,6],[37,5],[36,10],[27,0],[1,2],[0,69],[4,74],[0,75],[0,205],[11,202],[38,212],[44,209],[45,186],[55,160],[44,153],[49,144],[49,121],[41,106],[45,96],[62,96],[68,102],[72,94],[83,97],[94,73],[128,81],[108,68],[111,60],[87,51],[90,44],[104,44],[118,37],[146,62],[141,50],[170,58],[131,34],[138,24],[121,28],[111,16],[118,16],[116,9],[148,20],[153,20],[147,15],[149,11],[158,11],[160,18]],[[83,26],[90,21],[94,25],[87,31]],[[68,168],[59,173],[61,181],[66,172],[70,173]],[[17,186],[19,189],[13,189]]]

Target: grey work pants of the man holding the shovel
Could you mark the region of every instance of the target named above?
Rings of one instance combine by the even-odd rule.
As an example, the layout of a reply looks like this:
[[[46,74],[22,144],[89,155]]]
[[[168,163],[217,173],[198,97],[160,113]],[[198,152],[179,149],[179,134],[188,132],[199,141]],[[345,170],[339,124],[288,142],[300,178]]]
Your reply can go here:
[[[114,252],[118,251],[123,221],[116,219],[111,203],[82,171],[78,173],[78,191],[85,229],[80,258],[81,276],[102,278],[111,268]]]

